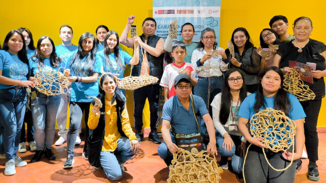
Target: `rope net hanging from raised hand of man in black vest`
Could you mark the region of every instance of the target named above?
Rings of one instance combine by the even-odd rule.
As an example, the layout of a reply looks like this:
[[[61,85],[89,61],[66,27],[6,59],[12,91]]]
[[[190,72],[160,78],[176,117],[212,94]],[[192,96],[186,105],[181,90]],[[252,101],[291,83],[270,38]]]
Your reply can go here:
[[[142,46],[141,46],[141,49],[142,49],[143,61],[144,61],[144,53],[143,53]],[[145,70],[146,70],[146,75],[131,76],[131,73],[132,73],[132,67],[131,67],[130,75],[121,79],[121,81],[119,82],[119,88],[124,89],[124,90],[135,90],[135,89],[141,88],[143,86],[147,86],[147,85],[154,84],[154,83],[158,82],[159,81],[158,78],[148,75],[146,65],[144,65],[144,66],[145,66]]]

